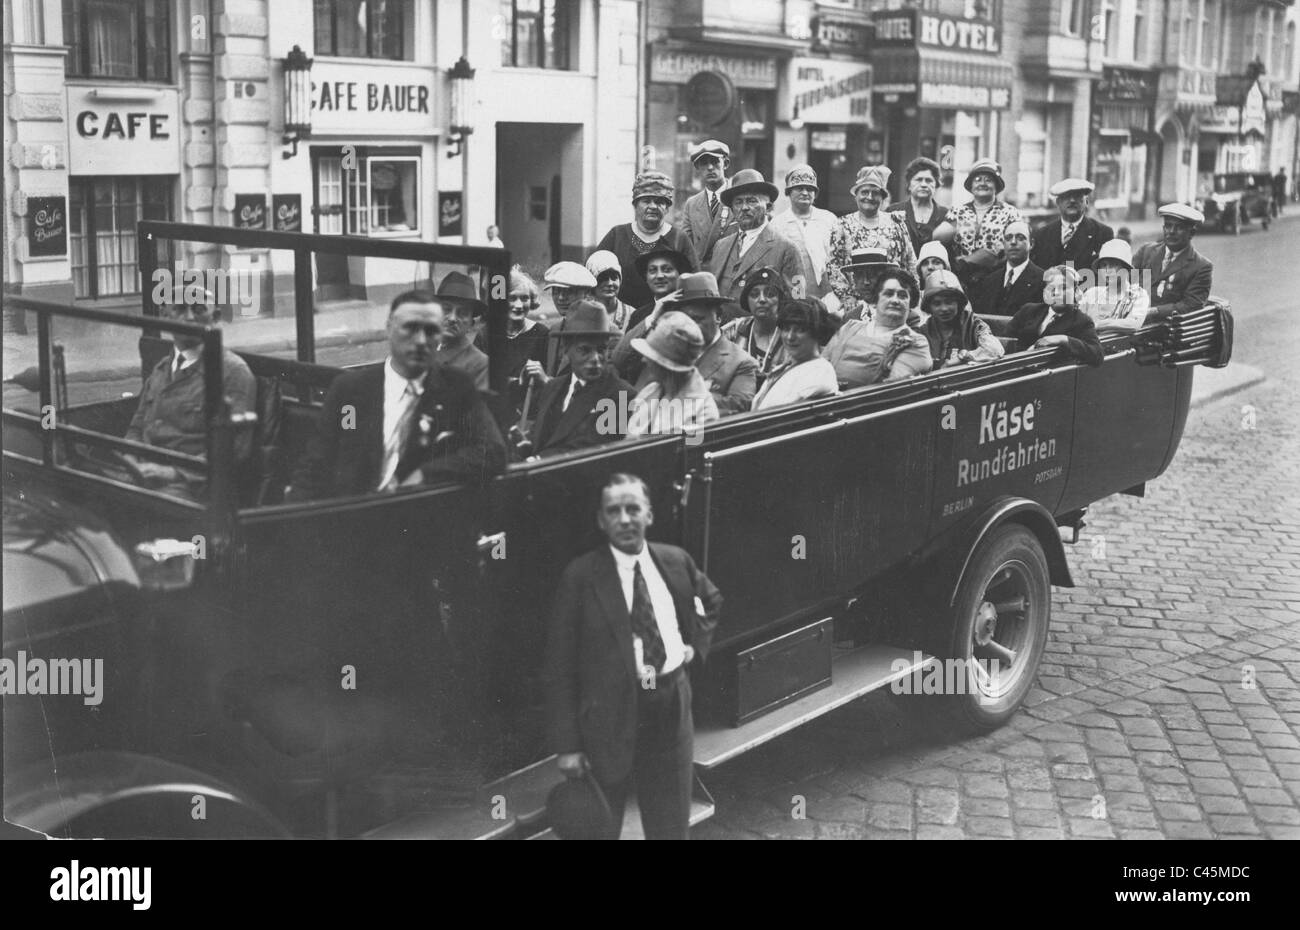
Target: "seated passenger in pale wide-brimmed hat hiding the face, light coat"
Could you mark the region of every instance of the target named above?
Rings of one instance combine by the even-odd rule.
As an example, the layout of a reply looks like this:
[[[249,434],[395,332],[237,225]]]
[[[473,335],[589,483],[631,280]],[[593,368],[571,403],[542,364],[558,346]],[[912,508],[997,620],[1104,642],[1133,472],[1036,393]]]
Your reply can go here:
[[[628,436],[664,436],[718,419],[718,405],[696,362],[705,337],[680,310],[666,311],[644,338],[632,341],[646,359],[642,386],[632,401]]]

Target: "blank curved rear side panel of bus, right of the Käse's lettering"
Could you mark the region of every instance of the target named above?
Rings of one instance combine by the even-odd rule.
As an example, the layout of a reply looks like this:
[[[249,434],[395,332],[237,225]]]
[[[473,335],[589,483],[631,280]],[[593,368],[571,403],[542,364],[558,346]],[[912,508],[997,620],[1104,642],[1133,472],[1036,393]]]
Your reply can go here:
[[[1164,471],[1179,407],[1178,371],[1114,355],[1100,368],[1079,369],[1078,398],[1070,480],[1056,512],[1086,507]]]

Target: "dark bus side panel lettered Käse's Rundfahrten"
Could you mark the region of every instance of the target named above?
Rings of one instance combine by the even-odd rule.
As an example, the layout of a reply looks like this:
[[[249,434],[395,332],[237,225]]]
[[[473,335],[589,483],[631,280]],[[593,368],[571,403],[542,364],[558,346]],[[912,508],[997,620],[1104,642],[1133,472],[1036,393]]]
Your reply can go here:
[[[1052,511],[1070,471],[1075,369],[963,392],[936,419],[936,538],[997,497],[1023,497]]]

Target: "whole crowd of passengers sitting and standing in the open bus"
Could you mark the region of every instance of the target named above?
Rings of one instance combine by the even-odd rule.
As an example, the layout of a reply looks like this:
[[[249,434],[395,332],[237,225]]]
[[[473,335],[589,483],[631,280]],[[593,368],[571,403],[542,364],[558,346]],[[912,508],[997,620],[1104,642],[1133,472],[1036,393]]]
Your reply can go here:
[[[935,202],[942,176],[930,159],[907,165],[907,196],[889,206],[890,170],[864,166],[852,187],[858,209],[838,219],[812,206],[807,165],[786,173],[786,203],[774,213],[776,186],[753,169],[728,178],[724,143],[702,143],[693,160],[702,189],[677,215],[671,179],[644,172],[633,220],[585,264],[556,263],[541,285],[511,269],[508,390],[497,418],[484,395],[486,304],[474,281],[450,272],[433,293],[399,295],[389,360],[378,375],[334,381],[294,493],[499,471],[499,423],[516,424],[514,451],[533,458],[1009,350],[1058,349],[1100,365],[1098,333],[1134,332],[1209,295],[1212,265],[1191,247],[1202,217],[1183,204],[1161,208],[1164,242],[1135,255],[1087,215],[1093,185],[1079,178],[1052,187],[1060,219],[1035,237],[998,199],[1005,182],[991,159],[971,165],[971,200],[952,209]],[[534,319],[543,291],[559,316],[551,326]],[[162,375],[151,377],[140,410],[165,389]],[[365,411],[372,429],[334,423],[342,410]]]

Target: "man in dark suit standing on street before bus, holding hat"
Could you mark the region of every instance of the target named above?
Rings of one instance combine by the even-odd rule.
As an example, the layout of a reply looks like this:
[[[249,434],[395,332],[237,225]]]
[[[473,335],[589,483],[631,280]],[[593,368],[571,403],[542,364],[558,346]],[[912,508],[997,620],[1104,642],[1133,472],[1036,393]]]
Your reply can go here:
[[[705,659],[723,598],[684,549],[646,541],[654,512],[636,475],[610,476],[595,519],[608,545],[573,559],[555,593],[545,679],[551,748],[566,778],[594,775],[615,836],[634,786],[646,839],[686,839],[686,669]]]

